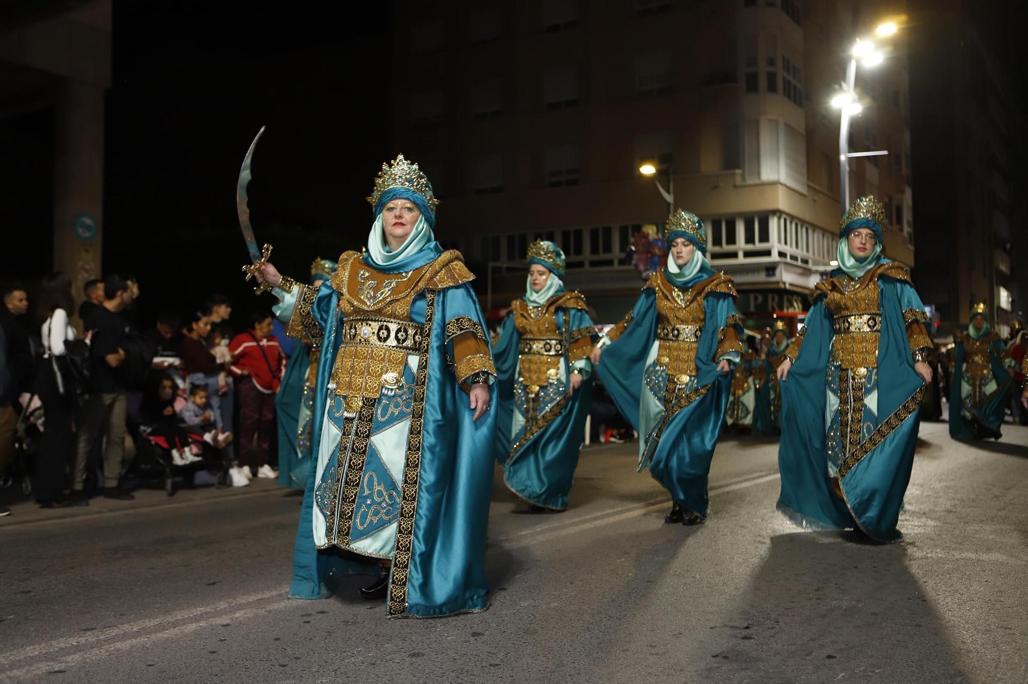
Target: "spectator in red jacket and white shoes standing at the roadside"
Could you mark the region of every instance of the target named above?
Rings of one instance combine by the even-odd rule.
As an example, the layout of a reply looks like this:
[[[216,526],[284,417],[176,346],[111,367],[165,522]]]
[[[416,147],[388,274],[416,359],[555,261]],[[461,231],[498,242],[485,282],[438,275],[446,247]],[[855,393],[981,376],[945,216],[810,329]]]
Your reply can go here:
[[[240,392],[240,465],[245,476],[253,477],[256,468],[258,478],[273,480],[279,473],[268,465],[268,449],[276,429],[274,393],[286,365],[279,339],[271,335],[271,314],[255,311],[250,329],[236,335],[228,350]]]

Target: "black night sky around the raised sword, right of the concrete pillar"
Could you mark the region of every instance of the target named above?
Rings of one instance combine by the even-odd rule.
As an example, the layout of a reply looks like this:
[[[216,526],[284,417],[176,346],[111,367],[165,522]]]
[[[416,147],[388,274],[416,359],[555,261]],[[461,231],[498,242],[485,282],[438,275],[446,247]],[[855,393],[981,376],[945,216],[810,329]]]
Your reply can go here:
[[[327,3],[326,3],[327,4]],[[243,282],[235,182],[250,141],[251,221],[274,263],[306,278],[315,257],[359,248],[392,154],[389,3],[114,4],[104,268],[137,275],[141,322],[212,293],[236,327],[269,306]]]

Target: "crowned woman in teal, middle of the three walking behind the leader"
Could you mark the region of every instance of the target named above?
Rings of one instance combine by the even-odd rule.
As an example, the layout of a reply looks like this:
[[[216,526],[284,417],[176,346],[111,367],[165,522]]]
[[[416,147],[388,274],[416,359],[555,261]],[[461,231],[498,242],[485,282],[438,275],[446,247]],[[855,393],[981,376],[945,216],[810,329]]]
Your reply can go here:
[[[639,433],[638,469],[671,494],[665,523],[707,515],[707,474],[743,347],[732,278],[707,264],[703,222],[678,210],[664,228],[667,266],[591,354],[599,379]],[[602,364],[599,363],[602,354]]]

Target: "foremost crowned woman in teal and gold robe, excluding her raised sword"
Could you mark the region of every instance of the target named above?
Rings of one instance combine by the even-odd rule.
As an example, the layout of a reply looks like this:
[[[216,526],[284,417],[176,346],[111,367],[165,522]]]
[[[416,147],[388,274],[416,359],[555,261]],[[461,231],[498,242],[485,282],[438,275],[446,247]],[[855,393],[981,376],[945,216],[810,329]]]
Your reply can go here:
[[[417,164],[382,164],[368,200],[367,253],[344,253],[331,280],[259,270],[287,332],[321,347],[289,595],[328,598],[338,575],[380,568],[361,592],[390,616],[480,612],[495,371],[474,276],[435,241]]]

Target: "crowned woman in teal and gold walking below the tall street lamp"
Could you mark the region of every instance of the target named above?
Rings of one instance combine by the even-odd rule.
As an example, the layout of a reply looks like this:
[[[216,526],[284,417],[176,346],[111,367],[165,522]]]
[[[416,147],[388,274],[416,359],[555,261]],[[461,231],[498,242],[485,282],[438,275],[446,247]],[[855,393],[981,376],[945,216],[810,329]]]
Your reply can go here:
[[[885,259],[885,212],[860,197],[839,222],[839,268],[816,286],[778,366],[778,510],[804,527],[900,538],[896,520],[931,369],[928,320],[907,267]]]

